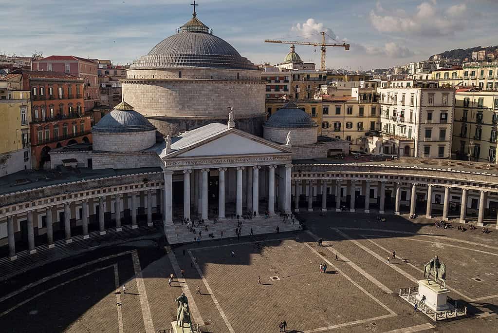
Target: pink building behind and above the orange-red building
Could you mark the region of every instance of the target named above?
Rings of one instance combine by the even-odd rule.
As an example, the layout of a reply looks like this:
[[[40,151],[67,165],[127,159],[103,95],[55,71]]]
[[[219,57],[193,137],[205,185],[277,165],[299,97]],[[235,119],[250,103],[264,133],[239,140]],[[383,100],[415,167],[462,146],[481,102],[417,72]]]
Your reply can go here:
[[[85,81],[85,112],[94,108],[100,101],[98,63],[74,55],[51,55],[33,60],[33,70],[62,72],[82,78]]]

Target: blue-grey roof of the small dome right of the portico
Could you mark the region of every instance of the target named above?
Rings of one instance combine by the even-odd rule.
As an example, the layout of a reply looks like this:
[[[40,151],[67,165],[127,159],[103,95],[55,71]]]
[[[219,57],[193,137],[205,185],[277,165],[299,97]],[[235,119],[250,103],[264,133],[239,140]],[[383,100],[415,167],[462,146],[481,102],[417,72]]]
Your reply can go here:
[[[271,115],[264,126],[280,128],[305,128],[317,127],[318,125],[306,112],[299,109],[295,103],[289,102]]]

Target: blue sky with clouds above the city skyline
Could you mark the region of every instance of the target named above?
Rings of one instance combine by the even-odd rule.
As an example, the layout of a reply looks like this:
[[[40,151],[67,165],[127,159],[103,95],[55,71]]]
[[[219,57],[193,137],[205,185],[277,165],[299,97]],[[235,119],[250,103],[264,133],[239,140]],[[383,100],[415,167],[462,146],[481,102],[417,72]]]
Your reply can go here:
[[[133,62],[192,16],[191,0],[0,0],[0,53]],[[327,48],[328,68],[369,70],[455,48],[497,45],[498,0],[196,0],[198,18],[253,63],[277,63],[319,31],[351,49]],[[328,42],[334,42],[328,37]],[[315,52],[316,50],[316,52]],[[320,63],[320,48],[296,46]]]

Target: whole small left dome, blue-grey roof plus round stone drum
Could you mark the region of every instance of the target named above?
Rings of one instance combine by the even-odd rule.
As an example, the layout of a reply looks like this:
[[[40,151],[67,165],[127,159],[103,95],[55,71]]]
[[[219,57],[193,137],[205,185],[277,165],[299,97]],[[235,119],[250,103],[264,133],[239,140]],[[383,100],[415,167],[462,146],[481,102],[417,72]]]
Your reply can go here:
[[[155,145],[156,128],[125,102],[92,127],[95,152],[139,152]]]

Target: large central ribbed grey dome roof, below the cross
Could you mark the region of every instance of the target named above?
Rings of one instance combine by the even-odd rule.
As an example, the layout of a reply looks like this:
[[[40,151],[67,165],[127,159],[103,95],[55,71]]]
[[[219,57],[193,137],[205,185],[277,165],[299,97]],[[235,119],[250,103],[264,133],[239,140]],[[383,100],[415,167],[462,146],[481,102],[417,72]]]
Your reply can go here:
[[[215,67],[254,69],[247,58],[195,15],[177,33],[160,41],[147,55],[140,57],[130,68]]]

